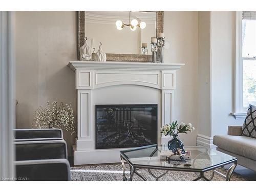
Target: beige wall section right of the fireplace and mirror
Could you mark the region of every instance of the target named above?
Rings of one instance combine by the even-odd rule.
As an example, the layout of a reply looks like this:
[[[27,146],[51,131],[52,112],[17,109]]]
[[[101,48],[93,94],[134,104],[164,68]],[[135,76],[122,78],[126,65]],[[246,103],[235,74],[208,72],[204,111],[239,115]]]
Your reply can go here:
[[[196,145],[198,132],[198,12],[164,12],[164,34],[170,49],[164,50],[164,62],[185,63],[177,72],[175,118],[191,122],[196,131],[181,134],[185,145]]]

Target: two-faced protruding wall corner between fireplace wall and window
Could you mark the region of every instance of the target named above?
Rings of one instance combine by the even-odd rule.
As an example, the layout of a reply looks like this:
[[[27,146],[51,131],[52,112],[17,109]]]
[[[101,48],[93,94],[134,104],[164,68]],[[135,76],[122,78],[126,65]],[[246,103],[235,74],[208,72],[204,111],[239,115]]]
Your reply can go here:
[[[228,125],[244,121],[230,115],[234,102],[235,36],[235,12],[199,12],[199,134],[211,138],[226,135]]]

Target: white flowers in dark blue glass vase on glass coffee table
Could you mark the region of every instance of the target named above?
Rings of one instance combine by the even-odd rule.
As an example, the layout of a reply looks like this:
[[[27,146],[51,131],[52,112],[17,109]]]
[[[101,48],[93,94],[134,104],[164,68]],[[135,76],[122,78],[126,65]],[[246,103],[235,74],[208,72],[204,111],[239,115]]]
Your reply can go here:
[[[164,136],[173,136],[173,139],[168,142],[168,149],[171,151],[177,148],[183,150],[184,145],[182,141],[177,138],[179,133],[193,132],[194,130],[195,127],[192,127],[191,123],[181,123],[179,126],[177,121],[161,127],[161,133]]]

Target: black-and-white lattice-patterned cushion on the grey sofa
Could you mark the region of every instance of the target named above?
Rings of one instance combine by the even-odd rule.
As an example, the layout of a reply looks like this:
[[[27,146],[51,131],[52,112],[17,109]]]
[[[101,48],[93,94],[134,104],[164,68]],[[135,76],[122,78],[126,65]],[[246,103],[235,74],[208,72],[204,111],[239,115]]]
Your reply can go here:
[[[242,135],[256,138],[256,106],[249,105],[244,124],[242,126]]]

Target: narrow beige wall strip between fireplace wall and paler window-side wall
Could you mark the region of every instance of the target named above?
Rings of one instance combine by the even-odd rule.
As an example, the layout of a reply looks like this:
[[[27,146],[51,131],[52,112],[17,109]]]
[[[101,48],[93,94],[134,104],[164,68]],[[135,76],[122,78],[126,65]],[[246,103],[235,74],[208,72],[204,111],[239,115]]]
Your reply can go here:
[[[210,137],[210,12],[200,11],[198,19],[198,134]]]

